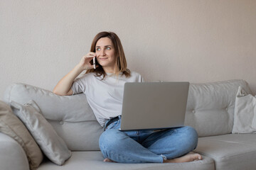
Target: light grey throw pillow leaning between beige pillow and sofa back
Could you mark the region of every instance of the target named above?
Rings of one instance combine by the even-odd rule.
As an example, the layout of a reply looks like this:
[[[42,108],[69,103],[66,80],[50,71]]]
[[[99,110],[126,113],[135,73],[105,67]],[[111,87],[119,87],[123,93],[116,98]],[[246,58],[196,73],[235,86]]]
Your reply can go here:
[[[11,101],[14,113],[26,125],[31,135],[41,147],[46,157],[55,164],[63,165],[71,157],[71,152],[65,142],[58,136],[52,125],[41,114],[35,101],[21,105]]]

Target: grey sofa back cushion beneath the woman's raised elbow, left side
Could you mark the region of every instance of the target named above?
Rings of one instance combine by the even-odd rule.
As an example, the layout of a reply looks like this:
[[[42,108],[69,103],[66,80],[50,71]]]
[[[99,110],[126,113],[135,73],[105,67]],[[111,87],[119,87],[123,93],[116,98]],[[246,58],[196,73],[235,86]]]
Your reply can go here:
[[[71,150],[99,150],[98,139],[103,132],[87,103],[85,94],[58,96],[53,92],[27,84],[11,84],[4,101],[37,103],[43,116]]]

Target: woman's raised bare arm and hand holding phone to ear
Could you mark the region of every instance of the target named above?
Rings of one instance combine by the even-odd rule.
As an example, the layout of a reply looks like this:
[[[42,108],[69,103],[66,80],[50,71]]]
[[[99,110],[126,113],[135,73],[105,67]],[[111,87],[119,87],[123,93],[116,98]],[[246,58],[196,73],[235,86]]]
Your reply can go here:
[[[95,57],[95,52],[89,52],[87,55],[82,57],[82,60],[78,65],[75,66],[63,79],[61,79],[58,84],[53,89],[54,94],[58,94],[60,96],[70,96],[73,94],[73,90],[71,86],[76,77],[85,69],[92,69],[93,65],[90,64],[90,61]]]

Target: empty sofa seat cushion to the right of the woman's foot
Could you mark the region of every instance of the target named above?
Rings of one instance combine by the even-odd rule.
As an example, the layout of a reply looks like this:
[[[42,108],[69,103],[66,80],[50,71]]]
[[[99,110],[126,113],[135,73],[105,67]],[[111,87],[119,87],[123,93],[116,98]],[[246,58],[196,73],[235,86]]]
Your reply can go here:
[[[199,137],[196,152],[213,158],[215,169],[255,169],[256,135]]]

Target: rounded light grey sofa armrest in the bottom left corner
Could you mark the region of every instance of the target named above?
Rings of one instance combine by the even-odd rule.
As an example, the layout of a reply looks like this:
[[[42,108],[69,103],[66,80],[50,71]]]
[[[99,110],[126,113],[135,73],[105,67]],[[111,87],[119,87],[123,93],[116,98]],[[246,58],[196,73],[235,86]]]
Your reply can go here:
[[[29,170],[28,159],[21,145],[0,132],[0,169]]]

